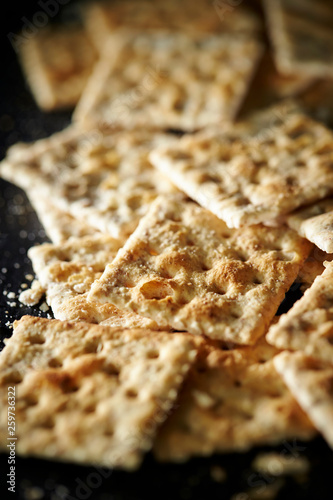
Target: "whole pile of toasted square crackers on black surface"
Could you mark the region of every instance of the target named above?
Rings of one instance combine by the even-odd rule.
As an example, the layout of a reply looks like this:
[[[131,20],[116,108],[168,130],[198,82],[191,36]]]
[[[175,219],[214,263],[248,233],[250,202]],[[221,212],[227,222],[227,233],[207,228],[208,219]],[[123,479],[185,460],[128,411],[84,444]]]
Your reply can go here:
[[[94,3],[22,47],[38,104],[76,108],[0,165],[51,240],[21,300],[55,318],[16,321],[0,355],[2,449],[8,387],[22,455],[333,447],[333,132],[304,107],[318,79],[332,92],[333,11],[264,4],[273,49],[258,13],[206,0]]]

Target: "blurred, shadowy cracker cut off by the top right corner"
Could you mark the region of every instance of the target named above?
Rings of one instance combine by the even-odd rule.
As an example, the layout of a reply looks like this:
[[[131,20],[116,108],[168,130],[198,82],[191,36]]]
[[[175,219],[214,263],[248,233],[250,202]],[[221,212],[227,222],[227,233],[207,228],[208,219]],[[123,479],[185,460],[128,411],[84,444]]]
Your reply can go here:
[[[325,0],[265,0],[275,60],[282,73],[333,75],[333,12]]]

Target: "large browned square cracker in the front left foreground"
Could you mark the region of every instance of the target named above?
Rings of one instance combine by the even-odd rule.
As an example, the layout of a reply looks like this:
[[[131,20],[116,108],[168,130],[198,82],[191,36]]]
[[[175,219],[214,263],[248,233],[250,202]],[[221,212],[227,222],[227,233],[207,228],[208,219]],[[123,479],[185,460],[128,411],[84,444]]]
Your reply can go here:
[[[182,334],[24,316],[0,355],[1,449],[12,387],[17,453],[134,469],[194,356]]]

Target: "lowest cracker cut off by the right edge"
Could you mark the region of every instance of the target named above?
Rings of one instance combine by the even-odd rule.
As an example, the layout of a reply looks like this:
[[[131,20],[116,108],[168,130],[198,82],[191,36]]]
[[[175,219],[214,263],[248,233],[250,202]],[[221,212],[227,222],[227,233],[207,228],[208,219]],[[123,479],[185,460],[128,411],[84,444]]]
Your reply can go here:
[[[303,352],[283,352],[274,359],[295,398],[333,448],[333,366]]]

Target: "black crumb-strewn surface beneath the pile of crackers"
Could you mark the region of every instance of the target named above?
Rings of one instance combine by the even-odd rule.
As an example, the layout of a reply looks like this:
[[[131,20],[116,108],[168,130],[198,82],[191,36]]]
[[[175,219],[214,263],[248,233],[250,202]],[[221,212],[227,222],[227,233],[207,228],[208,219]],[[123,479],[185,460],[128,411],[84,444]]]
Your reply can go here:
[[[2,36],[2,58],[5,62],[2,67],[5,69],[0,83],[1,157],[9,145],[45,137],[62,129],[70,120],[68,112],[41,113],[26,88],[6,33],[20,29],[22,16],[29,18],[40,8],[37,2],[30,2],[26,4],[25,11],[16,13],[15,6],[9,6],[7,31]],[[63,17],[70,18],[71,15]],[[38,306],[29,308],[18,302],[17,294],[22,283],[30,283],[25,276],[32,273],[26,252],[30,246],[46,238],[24,193],[4,181],[0,181],[0,231],[0,333],[1,338],[4,338],[9,337],[12,331],[6,323],[27,313],[49,314],[42,313]],[[13,292],[15,298],[9,299],[3,291]],[[299,288],[294,286],[279,312],[285,312],[299,297]],[[251,468],[251,463],[263,450],[274,450],[278,455],[287,456],[291,463],[298,456],[304,456],[310,463],[309,472],[280,478],[274,471],[272,474],[259,474]],[[279,490],[275,497],[278,499],[333,498],[333,453],[321,438],[310,443],[290,441],[279,447],[257,448],[245,454],[195,459],[184,465],[157,464],[148,456],[142,468],[131,474],[18,457],[15,465],[16,493],[10,493],[6,484],[9,471],[7,456],[0,455],[1,500],[256,500],[273,498],[269,495],[271,488]],[[221,467],[226,473],[226,479],[222,482]]]

